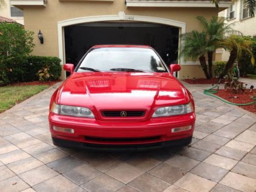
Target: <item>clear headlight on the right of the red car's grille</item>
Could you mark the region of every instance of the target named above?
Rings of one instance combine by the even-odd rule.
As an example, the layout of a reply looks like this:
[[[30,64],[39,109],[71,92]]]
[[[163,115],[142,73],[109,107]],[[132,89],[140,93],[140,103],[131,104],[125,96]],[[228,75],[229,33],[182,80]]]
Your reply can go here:
[[[182,115],[193,112],[192,103],[174,105],[174,106],[164,106],[162,108],[158,108],[152,117],[164,117],[164,116],[174,116],[174,115]]]

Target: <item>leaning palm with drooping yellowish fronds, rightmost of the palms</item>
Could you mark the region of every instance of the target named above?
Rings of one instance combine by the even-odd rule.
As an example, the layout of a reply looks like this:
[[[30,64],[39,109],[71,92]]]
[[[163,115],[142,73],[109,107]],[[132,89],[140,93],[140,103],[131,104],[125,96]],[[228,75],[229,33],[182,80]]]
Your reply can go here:
[[[253,53],[250,50],[252,44],[252,40],[246,40],[243,36],[238,35],[230,35],[220,42],[219,47],[230,52],[229,59],[220,78],[223,78],[228,73],[237,57],[241,56],[242,51],[246,51],[251,55],[251,63],[254,65]]]

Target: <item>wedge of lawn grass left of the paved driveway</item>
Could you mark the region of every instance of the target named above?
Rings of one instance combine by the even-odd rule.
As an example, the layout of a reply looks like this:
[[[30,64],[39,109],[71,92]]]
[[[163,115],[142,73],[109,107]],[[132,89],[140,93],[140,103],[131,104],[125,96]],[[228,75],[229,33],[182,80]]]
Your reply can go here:
[[[48,85],[0,87],[0,113],[48,87]]]

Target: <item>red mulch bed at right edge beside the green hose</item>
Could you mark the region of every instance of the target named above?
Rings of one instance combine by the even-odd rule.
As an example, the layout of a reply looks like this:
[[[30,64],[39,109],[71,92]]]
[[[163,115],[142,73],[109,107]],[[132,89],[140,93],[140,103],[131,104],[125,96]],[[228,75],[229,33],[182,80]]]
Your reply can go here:
[[[252,90],[252,92],[250,92],[250,90],[247,89],[247,90],[245,90],[244,94],[243,93],[233,93],[231,90],[219,90],[218,93],[216,93],[215,95],[217,95],[223,99],[226,99],[227,101],[233,102],[233,103],[248,103],[248,102],[253,101],[251,99],[251,96],[256,96],[256,90],[254,89],[254,90]],[[234,96],[236,96],[238,98],[233,98]],[[246,105],[246,106],[239,106],[239,107],[256,114],[256,103]]]

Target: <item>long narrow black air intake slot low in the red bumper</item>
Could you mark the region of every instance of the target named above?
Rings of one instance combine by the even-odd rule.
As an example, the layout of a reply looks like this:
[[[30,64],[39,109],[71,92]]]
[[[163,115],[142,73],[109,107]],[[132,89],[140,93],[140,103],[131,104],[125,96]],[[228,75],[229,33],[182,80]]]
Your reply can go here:
[[[155,137],[141,137],[141,138],[101,138],[101,137],[90,137],[85,136],[84,139],[90,141],[101,141],[101,142],[141,142],[141,141],[152,141],[152,140],[159,140],[161,136]]]

